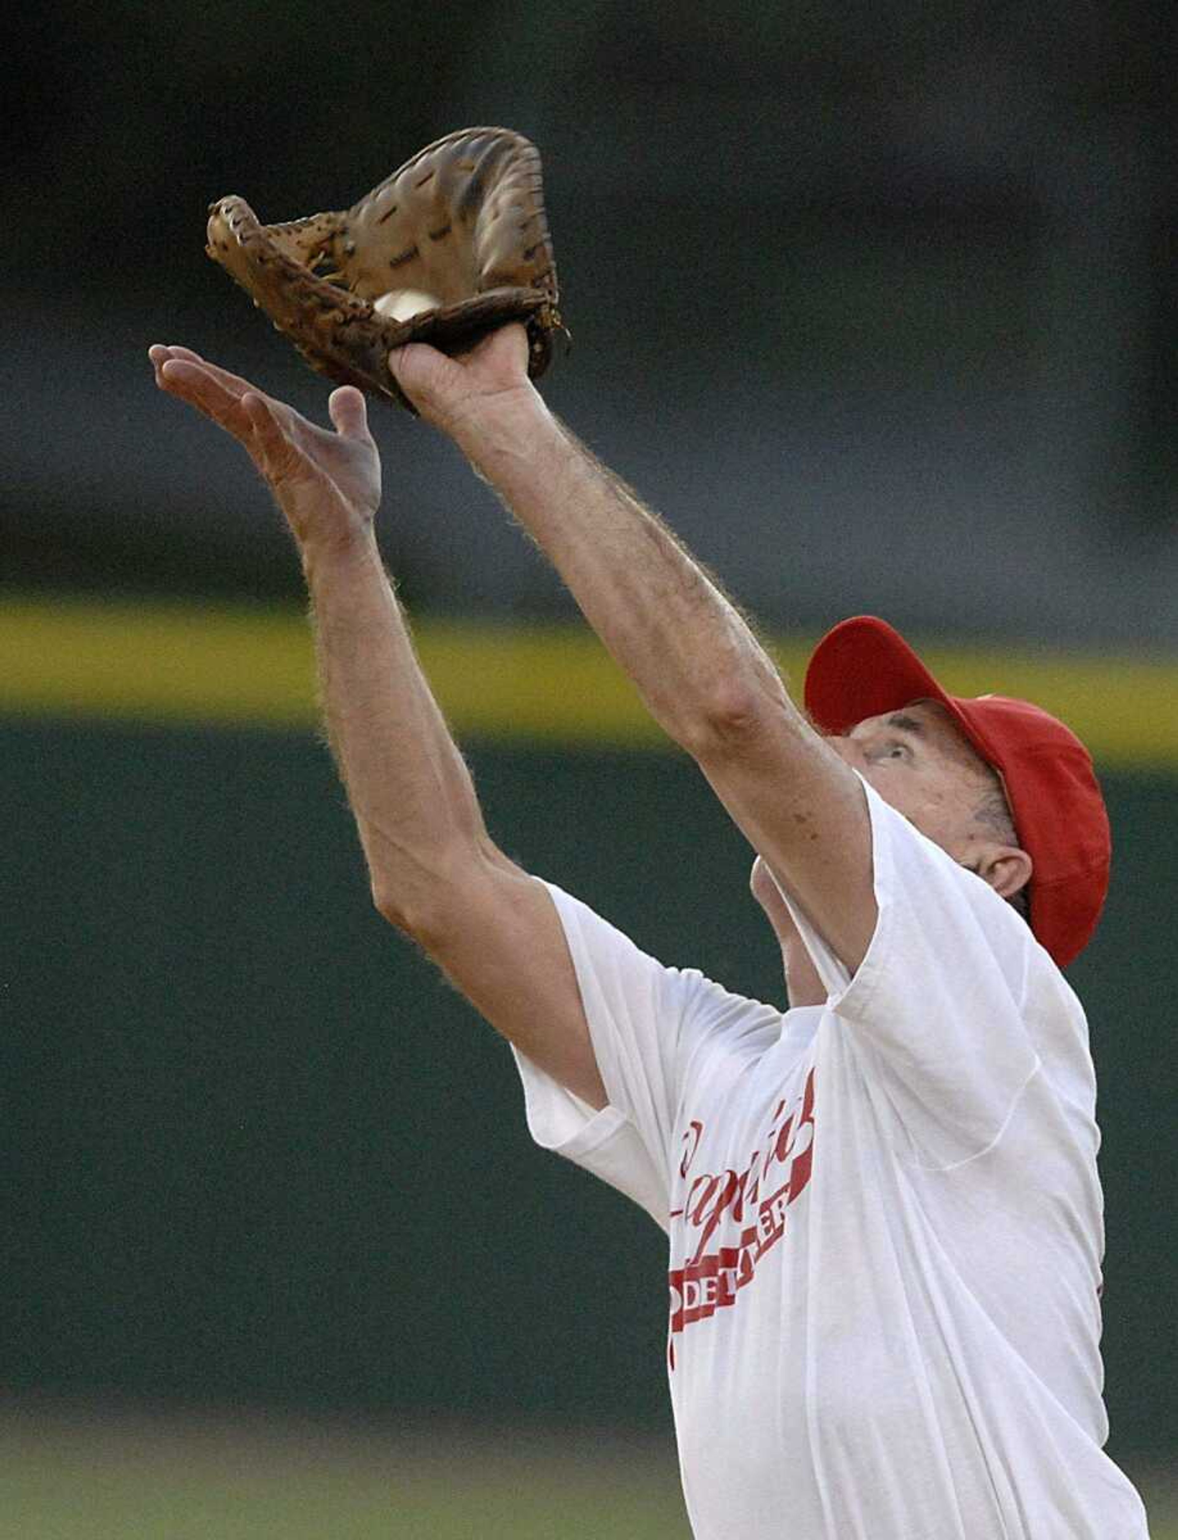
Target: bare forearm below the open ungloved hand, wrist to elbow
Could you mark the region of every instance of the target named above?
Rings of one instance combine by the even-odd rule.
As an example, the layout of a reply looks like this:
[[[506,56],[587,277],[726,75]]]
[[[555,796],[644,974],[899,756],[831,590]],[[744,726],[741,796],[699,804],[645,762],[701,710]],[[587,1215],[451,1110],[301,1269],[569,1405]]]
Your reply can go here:
[[[390,919],[419,929],[484,836],[470,773],[422,675],[373,536],[303,550],[322,708]]]

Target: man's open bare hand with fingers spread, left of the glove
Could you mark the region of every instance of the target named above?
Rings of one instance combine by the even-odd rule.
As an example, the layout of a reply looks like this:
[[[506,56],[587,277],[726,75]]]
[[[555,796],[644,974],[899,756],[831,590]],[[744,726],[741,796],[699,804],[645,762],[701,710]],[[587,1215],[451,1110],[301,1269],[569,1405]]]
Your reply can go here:
[[[331,393],[331,433],[189,348],[156,343],[148,356],[160,390],[196,407],[246,450],[302,550],[346,547],[371,534],[380,459],[359,390],[342,385]]]

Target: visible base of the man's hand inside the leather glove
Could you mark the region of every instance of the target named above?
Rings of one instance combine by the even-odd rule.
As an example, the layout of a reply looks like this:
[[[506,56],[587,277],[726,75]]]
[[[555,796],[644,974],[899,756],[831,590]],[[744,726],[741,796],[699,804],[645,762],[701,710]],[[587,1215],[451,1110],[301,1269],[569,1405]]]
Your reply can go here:
[[[423,342],[388,356],[388,368],[417,411],[451,439],[464,428],[493,431],[540,405],[528,379],[528,334],[519,322],[499,326],[470,353],[447,357]]]

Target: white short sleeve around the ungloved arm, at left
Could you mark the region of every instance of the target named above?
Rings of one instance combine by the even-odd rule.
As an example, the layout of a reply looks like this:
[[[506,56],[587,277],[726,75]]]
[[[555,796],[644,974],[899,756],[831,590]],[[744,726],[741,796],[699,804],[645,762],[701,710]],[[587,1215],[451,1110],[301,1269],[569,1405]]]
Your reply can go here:
[[[750,1041],[771,1041],[781,1013],[694,969],[665,967],[587,904],[545,884],[568,944],[608,1104],[587,1103],[514,1050],[528,1129],[667,1226],[676,1112],[688,1076]]]

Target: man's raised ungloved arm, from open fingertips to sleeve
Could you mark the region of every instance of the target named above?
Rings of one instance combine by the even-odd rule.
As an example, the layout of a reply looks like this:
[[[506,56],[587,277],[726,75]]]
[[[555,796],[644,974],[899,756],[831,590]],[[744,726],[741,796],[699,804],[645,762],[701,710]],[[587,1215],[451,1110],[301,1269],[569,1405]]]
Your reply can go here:
[[[385,576],[374,534],[380,462],[363,396],[333,393],[331,433],[186,348],[152,346],[151,360],[162,390],[243,445],[294,534],[328,736],[377,909],[507,1038],[604,1106],[553,902],[488,838]]]

